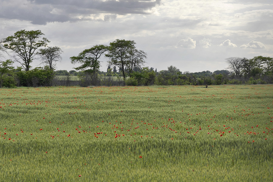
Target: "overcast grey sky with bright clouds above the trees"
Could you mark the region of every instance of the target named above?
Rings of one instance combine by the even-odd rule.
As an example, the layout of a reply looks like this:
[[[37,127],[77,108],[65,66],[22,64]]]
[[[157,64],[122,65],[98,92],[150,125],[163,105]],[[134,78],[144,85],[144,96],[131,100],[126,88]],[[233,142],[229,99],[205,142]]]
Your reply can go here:
[[[0,0],[0,38],[21,29],[41,30],[62,49],[56,70],[73,70],[69,57],[115,39],[134,40],[157,71],[213,72],[228,57],[273,57],[272,0]],[[100,70],[106,65],[101,59]]]

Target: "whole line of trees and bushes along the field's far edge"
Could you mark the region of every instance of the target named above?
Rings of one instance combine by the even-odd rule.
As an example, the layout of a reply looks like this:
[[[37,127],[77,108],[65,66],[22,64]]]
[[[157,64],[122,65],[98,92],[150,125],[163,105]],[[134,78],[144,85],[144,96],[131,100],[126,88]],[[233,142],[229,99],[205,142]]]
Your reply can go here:
[[[147,53],[136,48],[133,40],[116,39],[109,45],[95,45],[70,57],[72,64],[80,65],[75,70],[55,70],[61,61],[62,50],[47,46],[50,41],[40,30],[19,30],[14,35],[0,40],[0,51],[11,59],[0,61],[0,87],[57,86],[57,85],[205,85],[205,84],[271,84],[273,58],[252,59],[229,57],[227,70],[181,72],[174,66],[157,72],[153,67],[143,67]],[[1,57],[0,52],[0,57]],[[108,58],[106,72],[99,71],[100,58]],[[31,63],[39,59],[43,67],[32,69]],[[18,62],[21,66],[14,68]],[[56,75],[66,76],[63,82]],[[77,76],[78,81],[71,81]]]

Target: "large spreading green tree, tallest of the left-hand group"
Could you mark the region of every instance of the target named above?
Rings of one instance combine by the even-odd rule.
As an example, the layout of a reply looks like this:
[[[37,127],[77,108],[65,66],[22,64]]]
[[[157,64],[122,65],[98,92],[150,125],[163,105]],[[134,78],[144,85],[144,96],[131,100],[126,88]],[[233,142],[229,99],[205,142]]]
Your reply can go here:
[[[42,37],[43,35],[45,34],[41,30],[19,30],[13,36],[5,38],[4,47],[11,50],[14,53],[15,61],[28,71],[31,67],[30,63],[34,59],[35,51],[39,47],[46,46],[49,42],[48,39]]]

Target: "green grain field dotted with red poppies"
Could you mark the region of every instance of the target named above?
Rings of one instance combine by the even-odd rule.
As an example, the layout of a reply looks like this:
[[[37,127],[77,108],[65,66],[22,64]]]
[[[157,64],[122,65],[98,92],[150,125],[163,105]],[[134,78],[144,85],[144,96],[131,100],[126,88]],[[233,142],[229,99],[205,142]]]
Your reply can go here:
[[[273,180],[273,85],[0,94],[0,181]]]

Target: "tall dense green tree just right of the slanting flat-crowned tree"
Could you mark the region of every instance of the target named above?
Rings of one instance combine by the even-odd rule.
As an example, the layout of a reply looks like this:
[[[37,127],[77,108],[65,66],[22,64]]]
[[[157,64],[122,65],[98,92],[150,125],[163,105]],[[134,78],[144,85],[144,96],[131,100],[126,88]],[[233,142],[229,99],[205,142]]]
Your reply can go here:
[[[135,49],[135,44],[133,40],[116,39],[110,43],[108,54],[105,55],[110,58],[108,61],[110,65],[117,66],[122,71],[123,83],[125,83],[124,67],[130,64],[129,53]]]

